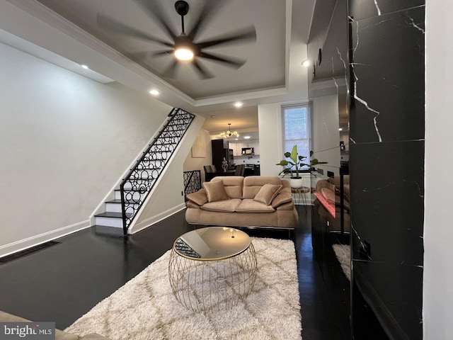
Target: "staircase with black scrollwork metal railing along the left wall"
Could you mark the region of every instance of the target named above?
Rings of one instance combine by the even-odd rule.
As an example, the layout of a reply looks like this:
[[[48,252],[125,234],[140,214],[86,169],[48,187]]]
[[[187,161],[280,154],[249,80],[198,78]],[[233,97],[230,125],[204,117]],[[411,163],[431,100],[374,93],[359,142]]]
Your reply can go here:
[[[105,202],[105,212],[95,215],[96,227],[122,229],[127,234],[194,118],[192,113],[173,108],[157,137],[115,189],[115,199]]]

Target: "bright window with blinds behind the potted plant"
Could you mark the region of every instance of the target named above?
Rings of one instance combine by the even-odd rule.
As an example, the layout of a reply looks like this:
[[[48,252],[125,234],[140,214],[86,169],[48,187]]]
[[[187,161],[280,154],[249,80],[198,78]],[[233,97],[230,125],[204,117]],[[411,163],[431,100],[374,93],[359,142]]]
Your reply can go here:
[[[310,156],[310,113],[309,104],[282,106],[283,152],[291,152],[297,145],[297,152],[309,160]]]

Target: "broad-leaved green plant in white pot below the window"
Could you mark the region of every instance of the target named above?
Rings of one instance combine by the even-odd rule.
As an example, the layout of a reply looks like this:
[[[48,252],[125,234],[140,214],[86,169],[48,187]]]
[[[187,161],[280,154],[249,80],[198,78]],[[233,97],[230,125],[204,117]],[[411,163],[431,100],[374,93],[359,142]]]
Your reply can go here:
[[[316,158],[311,159],[311,157],[313,157],[313,151],[310,151],[310,162],[304,163],[306,162],[306,156],[300,156],[297,153],[297,145],[294,145],[294,147],[292,147],[291,152],[285,152],[285,157],[289,160],[282,159],[280,163],[277,163],[276,165],[285,167],[285,169],[280,171],[279,175],[283,174],[283,177],[285,177],[287,174],[289,174],[291,176],[289,183],[291,183],[292,188],[302,188],[303,186],[302,177],[299,176],[299,171],[302,171],[302,166],[308,166],[308,171],[311,171],[311,169],[317,164],[327,164],[327,162],[319,162],[319,160]]]

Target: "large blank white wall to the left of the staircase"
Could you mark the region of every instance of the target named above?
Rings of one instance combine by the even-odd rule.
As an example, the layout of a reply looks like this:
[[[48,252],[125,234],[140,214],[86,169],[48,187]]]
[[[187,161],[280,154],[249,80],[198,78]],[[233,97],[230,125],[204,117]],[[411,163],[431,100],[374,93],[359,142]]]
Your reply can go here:
[[[89,225],[171,110],[0,44],[0,255]]]

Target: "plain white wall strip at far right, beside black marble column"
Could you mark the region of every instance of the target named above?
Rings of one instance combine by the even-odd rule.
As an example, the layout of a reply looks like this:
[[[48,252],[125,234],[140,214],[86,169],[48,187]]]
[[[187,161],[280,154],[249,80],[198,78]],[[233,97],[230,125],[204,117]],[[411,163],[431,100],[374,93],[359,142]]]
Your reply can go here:
[[[453,1],[426,2],[423,339],[453,334]]]

